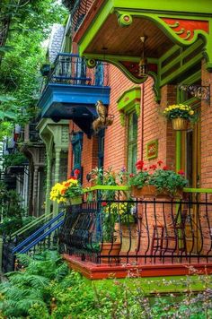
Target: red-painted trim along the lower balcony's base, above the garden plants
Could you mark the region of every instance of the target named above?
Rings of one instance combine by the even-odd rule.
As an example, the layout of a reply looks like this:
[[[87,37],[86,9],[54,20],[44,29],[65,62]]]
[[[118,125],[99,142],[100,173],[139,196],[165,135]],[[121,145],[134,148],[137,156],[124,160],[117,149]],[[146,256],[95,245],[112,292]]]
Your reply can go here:
[[[112,264],[96,264],[91,262],[82,262],[80,258],[63,255],[71,269],[80,272],[84,277],[90,280],[100,280],[106,278],[126,278],[130,272],[136,277],[165,277],[165,276],[181,276],[190,273],[190,267],[194,267],[202,274],[206,272],[212,274],[212,263],[167,263],[167,264],[148,264],[148,265],[112,265]]]

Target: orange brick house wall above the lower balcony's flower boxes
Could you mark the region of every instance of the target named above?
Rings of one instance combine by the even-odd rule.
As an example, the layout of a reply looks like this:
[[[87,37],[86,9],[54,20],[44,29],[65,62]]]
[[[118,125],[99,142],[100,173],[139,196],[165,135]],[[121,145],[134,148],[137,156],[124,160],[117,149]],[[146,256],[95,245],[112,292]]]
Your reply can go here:
[[[202,85],[208,85],[212,75],[207,72],[205,65],[202,67]],[[105,130],[104,168],[112,167],[119,170],[127,166],[127,140],[128,128],[121,126],[117,100],[120,95],[129,88],[135,86],[115,66],[110,65],[110,106],[109,113],[115,116],[114,122]],[[175,132],[172,124],[167,123],[162,116],[163,108],[176,103],[176,86],[164,86],[161,91],[161,103],[155,102],[155,93],[152,89],[153,80],[141,84],[141,112],[138,117],[137,133],[137,159],[145,160],[152,165],[157,160],[163,160],[164,165],[175,168]],[[212,90],[212,89],[211,89]],[[143,96],[144,92],[144,96]],[[211,92],[212,94],[212,92]],[[101,99],[101,97],[100,97]],[[212,139],[208,136],[212,133],[212,105],[202,101],[201,106],[201,187],[212,187]],[[73,128],[70,122],[70,131]],[[74,125],[74,129],[78,128]],[[146,160],[146,143],[158,139],[158,157],[155,160]],[[82,166],[84,167],[84,185],[86,175],[97,166],[98,160],[97,137],[89,140],[84,134]],[[72,166],[72,148],[69,149],[68,174]]]

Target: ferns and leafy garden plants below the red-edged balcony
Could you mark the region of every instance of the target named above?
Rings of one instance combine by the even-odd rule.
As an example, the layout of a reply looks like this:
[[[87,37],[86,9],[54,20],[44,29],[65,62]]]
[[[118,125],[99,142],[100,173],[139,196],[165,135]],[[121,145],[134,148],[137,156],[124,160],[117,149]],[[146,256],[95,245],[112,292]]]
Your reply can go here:
[[[34,260],[27,255],[18,257],[27,266],[22,272],[8,273],[8,281],[0,285],[0,310],[6,317],[207,319],[212,315],[212,281],[207,275],[198,277],[205,288],[199,294],[190,289],[188,276],[180,295],[146,296],[143,280],[132,279],[130,274],[126,280],[102,280],[96,284],[77,272],[69,272],[56,252],[44,252]],[[174,290],[172,281],[158,282]]]

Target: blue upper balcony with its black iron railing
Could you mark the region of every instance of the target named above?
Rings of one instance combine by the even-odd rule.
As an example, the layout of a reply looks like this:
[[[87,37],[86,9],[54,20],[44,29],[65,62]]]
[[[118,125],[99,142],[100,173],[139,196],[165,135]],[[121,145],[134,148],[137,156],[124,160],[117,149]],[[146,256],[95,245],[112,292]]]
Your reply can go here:
[[[72,119],[82,131],[91,135],[97,116],[95,104],[110,103],[108,65],[98,62],[88,68],[82,57],[61,53],[49,73],[48,82],[39,100],[40,116],[55,122]]]

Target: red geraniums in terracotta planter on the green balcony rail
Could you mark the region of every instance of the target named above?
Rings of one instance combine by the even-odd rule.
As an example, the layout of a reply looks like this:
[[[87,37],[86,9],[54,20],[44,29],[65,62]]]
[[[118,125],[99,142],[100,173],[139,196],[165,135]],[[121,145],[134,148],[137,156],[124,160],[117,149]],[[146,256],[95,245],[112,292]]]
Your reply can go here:
[[[167,166],[162,166],[159,160],[157,165],[145,167],[141,160],[137,161],[137,174],[129,175],[128,185],[132,186],[132,195],[140,197],[144,195],[169,195],[171,197],[181,196],[182,188],[188,184],[184,172],[177,173]]]

